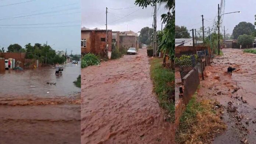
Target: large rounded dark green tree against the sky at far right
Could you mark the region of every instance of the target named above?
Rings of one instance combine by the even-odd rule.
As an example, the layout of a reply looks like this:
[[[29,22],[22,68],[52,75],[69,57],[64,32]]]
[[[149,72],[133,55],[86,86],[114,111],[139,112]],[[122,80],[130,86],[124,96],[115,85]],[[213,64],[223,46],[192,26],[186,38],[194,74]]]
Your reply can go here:
[[[240,35],[252,35],[252,33],[256,32],[255,26],[250,22],[239,22],[238,25],[233,29],[232,35],[234,39],[238,39]]]

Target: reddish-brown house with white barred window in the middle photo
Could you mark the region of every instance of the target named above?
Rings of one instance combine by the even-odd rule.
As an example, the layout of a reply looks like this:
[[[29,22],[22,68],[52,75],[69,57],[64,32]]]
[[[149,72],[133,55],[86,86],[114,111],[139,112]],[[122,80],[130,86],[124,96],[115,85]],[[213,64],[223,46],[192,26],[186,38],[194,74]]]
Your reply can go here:
[[[107,32],[106,34],[106,29],[81,28],[81,54],[95,53],[104,55],[106,44],[108,45],[108,51],[111,51],[112,30],[107,30]],[[107,43],[106,35],[108,35]]]

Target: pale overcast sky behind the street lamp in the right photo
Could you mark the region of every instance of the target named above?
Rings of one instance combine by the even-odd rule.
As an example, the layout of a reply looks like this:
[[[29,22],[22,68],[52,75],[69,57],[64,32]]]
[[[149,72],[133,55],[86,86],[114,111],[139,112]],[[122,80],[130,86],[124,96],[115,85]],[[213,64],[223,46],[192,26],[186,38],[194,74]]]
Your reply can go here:
[[[184,25],[188,30],[199,29],[204,16],[205,27],[211,26],[218,13],[218,4],[221,0],[176,0],[175,25]],[[241,11],[241,13],[225,14],[220,32],[232,34],[235,25],[239,22],[250,22],[254,25],[256,15],[256,0],[225,0],[224,13]],[[227,30],[228,29],[228,30]],[[192,36],[192,34],[191,34]]]

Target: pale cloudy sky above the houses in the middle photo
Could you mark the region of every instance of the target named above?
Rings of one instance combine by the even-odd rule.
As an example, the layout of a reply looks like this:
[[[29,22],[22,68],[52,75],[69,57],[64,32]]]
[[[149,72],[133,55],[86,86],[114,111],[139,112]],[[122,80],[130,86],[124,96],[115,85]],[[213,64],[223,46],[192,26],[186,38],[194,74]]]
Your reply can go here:
[[[96,27],[99,29],[106,29],[106,7],[108,7],[108,29],[112,29],[114,31],[126,31],[128,25],[128,30],[138,32],[146,26],[151,28],[153,22],[152,7],[149,6],[142,9],[142,7],[135,7],[136,5],[134,4],[134,2],[135,0],[82,0],[81,25],[82,27],[84,26],[90,29]],[[111,8],[127,9],[113,10]],[[161,29],[161,14],[166,12],[167,10],[164,8],[164,4],[162,4],[160,7],[157,6],[157,30]],[[128,16],[125,17],[126,15]]]

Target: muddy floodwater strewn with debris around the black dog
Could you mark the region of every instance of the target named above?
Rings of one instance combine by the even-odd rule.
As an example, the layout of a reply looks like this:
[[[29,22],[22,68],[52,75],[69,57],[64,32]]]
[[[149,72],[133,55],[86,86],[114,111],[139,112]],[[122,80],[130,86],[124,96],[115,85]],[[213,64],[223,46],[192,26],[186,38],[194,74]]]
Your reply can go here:
[[[206,79],[200,81],[200,98],[215,99],[224,106],[222,116],[227,130],[213,144],[256,143],[256,55],[239,49],[223,49],[206,67]],[[227,74],[228,66],[235,71]],[[214,76],[220,76],[214,79]]]

